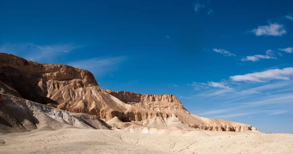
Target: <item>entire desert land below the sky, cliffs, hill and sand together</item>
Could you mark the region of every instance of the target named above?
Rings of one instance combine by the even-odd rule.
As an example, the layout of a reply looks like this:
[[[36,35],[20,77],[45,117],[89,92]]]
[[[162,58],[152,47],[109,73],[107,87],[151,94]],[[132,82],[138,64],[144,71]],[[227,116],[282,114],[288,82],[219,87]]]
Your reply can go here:
[[[113,92],[89,71],[0,53],[0,152],[291,154],[293,135],[192,115],[173,95]]]

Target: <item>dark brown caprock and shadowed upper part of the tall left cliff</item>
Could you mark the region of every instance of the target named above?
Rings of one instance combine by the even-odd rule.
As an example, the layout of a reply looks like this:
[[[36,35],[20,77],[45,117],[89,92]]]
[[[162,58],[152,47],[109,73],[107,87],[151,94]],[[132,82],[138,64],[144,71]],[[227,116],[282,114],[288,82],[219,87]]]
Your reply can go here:
[[[21,93],[23,98],[42,104],[58,104],[47,97],[50,83],[53,88],[98,86],[89,71],[67,65],[41,64],[3,53],[0,53],[0,80]]]

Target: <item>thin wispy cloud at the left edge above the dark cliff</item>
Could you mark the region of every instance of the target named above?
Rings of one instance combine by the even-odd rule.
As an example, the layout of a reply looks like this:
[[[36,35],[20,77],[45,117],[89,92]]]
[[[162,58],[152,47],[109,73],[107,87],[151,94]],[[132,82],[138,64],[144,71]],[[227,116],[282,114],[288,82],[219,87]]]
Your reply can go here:
[[[61,54],[68,54],[73,50],[84,47],[83,45],[53,44],[38,45],[34,43],[6,43],[0,46],[0,52],[15,54],[28,60],[43,60],[54,58]]]

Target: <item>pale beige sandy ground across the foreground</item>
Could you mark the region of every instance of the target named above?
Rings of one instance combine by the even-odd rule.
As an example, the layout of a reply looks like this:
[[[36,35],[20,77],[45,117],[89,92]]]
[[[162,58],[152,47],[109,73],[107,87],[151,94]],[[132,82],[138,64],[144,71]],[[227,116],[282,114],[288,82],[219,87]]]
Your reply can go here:
[[[293,154],[293,135],[173,136],[43,127],[0,135],[1,154]]]

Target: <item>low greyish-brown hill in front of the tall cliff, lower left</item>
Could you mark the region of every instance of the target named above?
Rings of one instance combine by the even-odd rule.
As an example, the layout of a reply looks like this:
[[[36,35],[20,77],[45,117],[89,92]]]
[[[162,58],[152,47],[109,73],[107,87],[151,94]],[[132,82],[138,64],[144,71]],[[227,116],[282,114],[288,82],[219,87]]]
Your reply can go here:
[[[96,116],[70,113],[20,97],[0,94],[0,133],[29,132],[38,128],[107,129]]]

